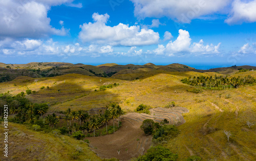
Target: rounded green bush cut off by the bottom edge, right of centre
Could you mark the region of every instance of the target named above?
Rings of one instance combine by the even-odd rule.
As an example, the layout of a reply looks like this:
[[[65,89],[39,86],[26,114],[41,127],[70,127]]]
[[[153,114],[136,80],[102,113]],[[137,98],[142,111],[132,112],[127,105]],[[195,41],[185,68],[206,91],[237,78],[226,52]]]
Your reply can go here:
[[[168,161],[175,161],[178,158],[178,154],[174,154],[170,152],[169,149],[156,146],[151,147],[147,150],[145,155],[140,156],[137,160],[138,161],[148,161],[148,160],[168,160]]]

